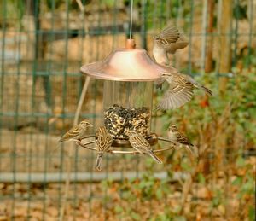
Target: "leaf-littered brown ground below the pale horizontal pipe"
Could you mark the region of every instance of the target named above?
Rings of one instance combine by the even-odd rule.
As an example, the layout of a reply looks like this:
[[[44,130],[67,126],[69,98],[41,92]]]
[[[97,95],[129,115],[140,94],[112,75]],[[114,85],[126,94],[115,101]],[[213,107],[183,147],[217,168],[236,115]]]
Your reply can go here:
[[[71,184],[69,198],[65,202],[64,220],[135,220],[132,214],[139,214],[141,220],[155,218],[165,212],[170,206],[177,208],[181,203],[182,193],[172,185],[170,194],[157,199],[137,200],[129,202],[117,188],[118,183],[107,190],[97,183]],[[1,183],[0,220],[57,220],[64,206],[65,193],[62,184],[20,184]],[[247,220],[241,209],[241,201],[230,197],[225,205],[212,206],[212,191],[206,186],[194,187],[189,194],[184,212],[189,220]],[[233,193],[236,189],[232,189]],[[122,196],[123,195],[123,196]],[[15,201],[12,200],[12,196]],[[252,203],[252,201],[251,201]],[[129,207],[130,212],[119,212],[119,207]],[[244,205],[245,206],[245,205]],[[168,214],[168,212],[166,213]],[[171,213],[170,213],[171,214]],[[169,220],[169,219],[166,219]]]

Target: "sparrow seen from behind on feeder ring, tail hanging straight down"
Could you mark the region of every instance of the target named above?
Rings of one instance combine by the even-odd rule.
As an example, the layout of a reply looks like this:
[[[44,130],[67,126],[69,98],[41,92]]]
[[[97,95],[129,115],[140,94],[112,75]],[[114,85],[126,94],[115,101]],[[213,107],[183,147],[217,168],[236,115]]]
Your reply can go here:
[[[113,138],[108,133],[105,126],[100,126],[98,131],[96,131],[96,144],[97,144],[97,158],[96,158],[96,170],[102,170],[102,157],[104,152],[111,148]]]

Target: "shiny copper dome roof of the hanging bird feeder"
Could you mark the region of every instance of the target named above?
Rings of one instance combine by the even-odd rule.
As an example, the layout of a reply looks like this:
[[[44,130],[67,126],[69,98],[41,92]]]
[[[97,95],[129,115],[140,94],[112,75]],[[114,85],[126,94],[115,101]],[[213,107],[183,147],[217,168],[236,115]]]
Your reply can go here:
[[[82,66],[81,72],[96,79],[154,81],[161,73],[176,70],[153,61],[145,49],[134,49],[133,40],[128,39],[127,43],[126,49],[113,50],[103,61]]]

